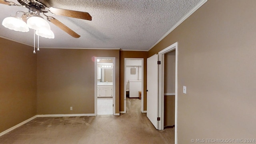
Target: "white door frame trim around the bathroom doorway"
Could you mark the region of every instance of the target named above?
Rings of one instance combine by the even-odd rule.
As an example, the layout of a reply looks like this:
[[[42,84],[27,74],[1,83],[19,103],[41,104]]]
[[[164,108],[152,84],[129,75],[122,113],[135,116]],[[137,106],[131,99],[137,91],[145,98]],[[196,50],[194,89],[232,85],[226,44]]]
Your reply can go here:
[[[116,114],[116,57],[94,57],[94,115],[97,115],[97,59],[113,60],[113,115]]]

